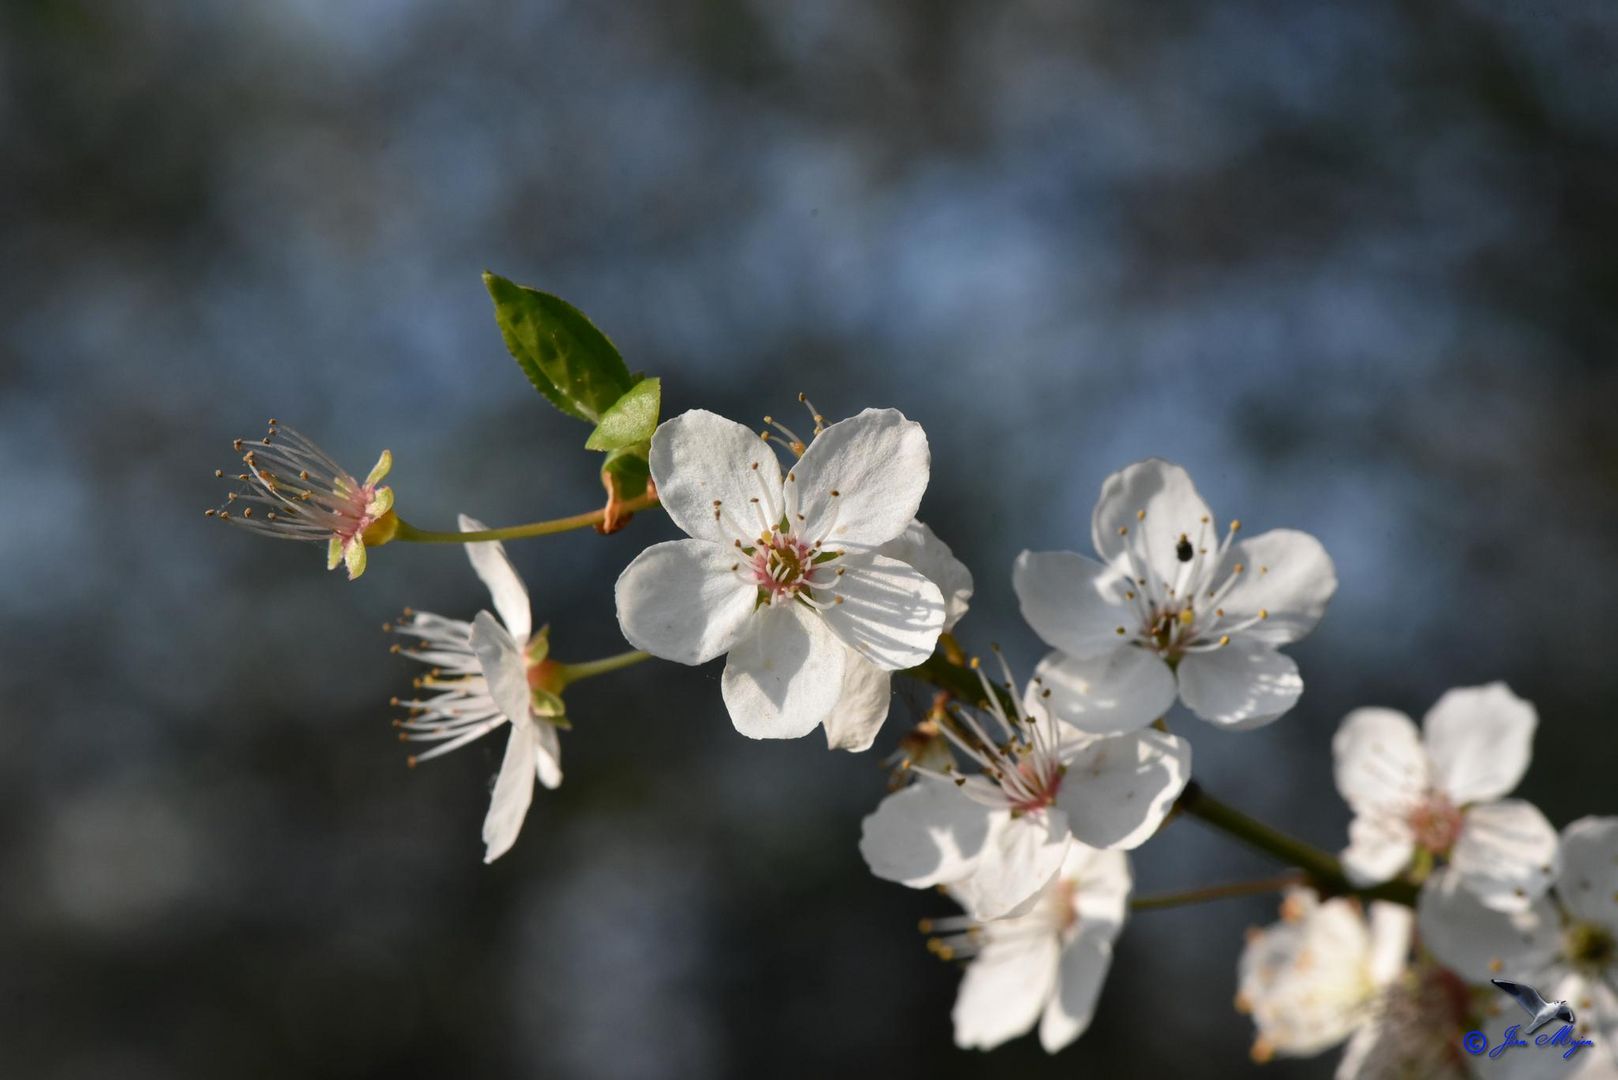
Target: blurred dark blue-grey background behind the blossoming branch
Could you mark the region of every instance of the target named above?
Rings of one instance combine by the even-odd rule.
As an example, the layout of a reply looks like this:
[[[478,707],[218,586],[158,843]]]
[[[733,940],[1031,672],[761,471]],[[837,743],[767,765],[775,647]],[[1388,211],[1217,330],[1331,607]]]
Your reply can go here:
[[[718,667],[570,693],[566,782],[481,865],[500,742],[414,772],[358,585],[205,521],[267,416],[400,507],[595,505],[482,269],[561,293],[670,411],[895,405],[961,633],[1039,657],[1024,546],[1112,470],[1320,536],[1283,722],[1184,719],[1204,784],[1335,848],[1330,735],[1505,678],[1523,787],[1618,810],[1618,10],[1594,0],[811,5],[18,0],[0,8],[0,1074],[1322,1077],[1231,1010],[1269,899],[1139,916],[1094,1030],[955,1051],[956,972],[872,879],[874,753],[752,743]],[[513,546],[555,651],[671,526]],[[1176,823],[1142,892],[1267,873]]]

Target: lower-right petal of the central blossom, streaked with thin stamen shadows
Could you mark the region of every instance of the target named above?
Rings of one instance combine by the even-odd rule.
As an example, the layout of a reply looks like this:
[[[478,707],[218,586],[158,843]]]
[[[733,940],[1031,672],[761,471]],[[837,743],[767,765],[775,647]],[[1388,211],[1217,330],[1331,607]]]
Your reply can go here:
[[[938,644],[943,596],[919,570],[887,555],[845,555],[825,625],[867,661],[887,670],[916,667]],[[822,567],[819,575],[828,573]],[[819,597],[820,593],[817,591]]]

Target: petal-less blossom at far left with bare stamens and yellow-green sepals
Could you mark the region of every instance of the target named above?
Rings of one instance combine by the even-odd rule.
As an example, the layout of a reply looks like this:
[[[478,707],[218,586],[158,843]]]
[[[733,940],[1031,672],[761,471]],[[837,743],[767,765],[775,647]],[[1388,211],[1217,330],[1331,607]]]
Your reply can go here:
[[[278,539],[325,544],[325,568],[348,568],[353,581],[366,572],[366,544],[393,539],[393,489],[382,478],[393,468],[387,450],[364,481],[354,479],[303,434],[270,421],[262,439],[236,439],[244,473],[220,510],[209,517]],[[215,470],[223,478],[223,470]]]

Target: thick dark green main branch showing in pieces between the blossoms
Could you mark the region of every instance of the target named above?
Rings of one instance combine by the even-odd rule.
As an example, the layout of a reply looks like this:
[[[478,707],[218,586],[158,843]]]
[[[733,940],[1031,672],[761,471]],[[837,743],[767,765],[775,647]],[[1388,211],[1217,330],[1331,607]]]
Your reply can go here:
[[[968,704],[987,704],[977,672],[959,664],[951,664],[943,653],[934,653],[925,662],[908,669],[904,674],[938,690],[945,690]],[[998,683],[990,683],[990,687],[1006,711],[1010,711],[1011,691]],[[1280,829],[1264,824],[1257,818],[1249,818],[1235,806],[1222,803],[1202,790],[1202,785],[1196,780],[1186,784],[1186,790],[1175,800],[1170,819],[1176,814],[1199,818],[1204,824],[1236,837],[1247,847],[1264,852],[1286,866],[1296,866],[1322,892],[1358,895],[1366,900],[1391,900],[1408,907],[1416,904],[1416,886],[1409,881],[1395,879],[1370,889],[1359,889],[1343,874],[1343,865],[1335,855],[1328,855],[1312,844],[1304,844]]]

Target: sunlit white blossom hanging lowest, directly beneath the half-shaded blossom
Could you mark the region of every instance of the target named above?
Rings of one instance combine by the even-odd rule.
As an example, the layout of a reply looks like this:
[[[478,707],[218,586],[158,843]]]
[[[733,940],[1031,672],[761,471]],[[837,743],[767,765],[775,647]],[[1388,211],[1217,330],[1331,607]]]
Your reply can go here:
[[[1129,908],[1129,857],[1073,844],[1021,915],[922,920],[927,947],[968,960],[955,997],[955,1044],[993,1049],[1039,1025],[1055,1054],[1084,1035]]]

